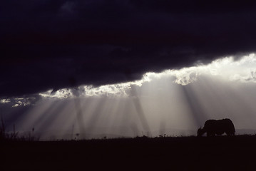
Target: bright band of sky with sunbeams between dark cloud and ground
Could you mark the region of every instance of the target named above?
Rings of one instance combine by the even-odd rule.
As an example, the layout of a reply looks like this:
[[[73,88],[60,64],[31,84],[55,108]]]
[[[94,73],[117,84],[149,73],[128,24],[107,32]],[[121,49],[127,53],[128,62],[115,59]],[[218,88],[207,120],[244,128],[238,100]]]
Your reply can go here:
[[[1,98],[0,104],[31,107],[12,122],[21,131],[35,128],[41,138],[194,135],[205,120],[221,118],[231,118],[237,130],[256,130],[255,83],[252,53],[145,73],[140,81]]]

